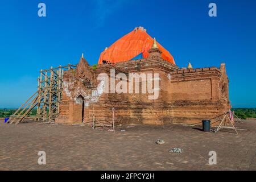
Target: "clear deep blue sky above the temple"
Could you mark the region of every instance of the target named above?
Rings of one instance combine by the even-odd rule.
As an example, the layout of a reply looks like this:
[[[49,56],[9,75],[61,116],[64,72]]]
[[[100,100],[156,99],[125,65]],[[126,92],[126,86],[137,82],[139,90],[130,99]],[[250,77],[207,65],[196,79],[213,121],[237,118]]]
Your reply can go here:
[[[46,3],[39,18],[38,4]],[[217,17],[208,5],[217,5]],[[254,0],[2,0],[0,108],[19,107],[36,91],[40,69],[89,64],[134,27],[143,26],[179,67],[226,63],[233,107],[256,107]]]

